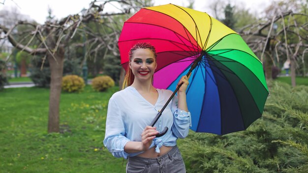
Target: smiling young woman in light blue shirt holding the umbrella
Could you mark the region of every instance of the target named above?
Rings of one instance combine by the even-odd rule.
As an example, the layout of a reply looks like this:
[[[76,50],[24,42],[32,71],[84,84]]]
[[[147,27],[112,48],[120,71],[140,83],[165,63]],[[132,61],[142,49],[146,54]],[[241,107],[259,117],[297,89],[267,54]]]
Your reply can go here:
[[[134,45],[129,52],[123,90],[109,100],[104,145],[115,157],[128,158],[127,173],[185,173],[176,141],[187,136],[191,122],[185,94],[188,78],[182,77],[177,96],[154,127],[149,126],[172,94],[153,87],[156,66],[151,44]],[[156,138],[164,127],[169,128],[167,133]]]

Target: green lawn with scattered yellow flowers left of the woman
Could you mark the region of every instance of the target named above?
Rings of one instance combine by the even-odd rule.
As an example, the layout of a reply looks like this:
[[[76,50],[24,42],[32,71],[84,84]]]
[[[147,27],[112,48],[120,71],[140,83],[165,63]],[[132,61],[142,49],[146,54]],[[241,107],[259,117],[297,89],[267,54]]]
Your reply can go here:
[[[103,146],[108,100],[118,90],[62,93],[61,133],[47,133],[49,89],[0,91],[0,173],[123,173]]]

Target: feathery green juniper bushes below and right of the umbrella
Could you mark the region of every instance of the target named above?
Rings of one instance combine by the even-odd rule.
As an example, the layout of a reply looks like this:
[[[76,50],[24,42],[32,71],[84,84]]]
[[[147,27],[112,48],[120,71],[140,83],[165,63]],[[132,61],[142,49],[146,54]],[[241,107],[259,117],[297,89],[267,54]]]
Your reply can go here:
[[[180,147],[188,173],[307,173],[308,87],[268,85],[262,118],[218,136],[190,131]]]

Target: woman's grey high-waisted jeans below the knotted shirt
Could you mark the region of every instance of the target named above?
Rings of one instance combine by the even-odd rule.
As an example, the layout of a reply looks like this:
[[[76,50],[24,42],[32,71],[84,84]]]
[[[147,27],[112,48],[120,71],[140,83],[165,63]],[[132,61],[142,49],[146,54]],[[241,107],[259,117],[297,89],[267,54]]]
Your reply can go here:
[[[128,157],[126,173],[185,173],[185,164],[177,146],[157,158]]]

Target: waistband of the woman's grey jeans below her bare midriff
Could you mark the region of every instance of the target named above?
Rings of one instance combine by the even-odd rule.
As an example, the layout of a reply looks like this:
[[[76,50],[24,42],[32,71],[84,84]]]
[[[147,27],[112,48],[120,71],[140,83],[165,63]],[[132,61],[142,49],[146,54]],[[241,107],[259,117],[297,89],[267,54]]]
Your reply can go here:
[[[145,158],[145,157],[134,156],[134,157],[128,157],[128,161],[139,162],[144,164],[157,163],[160,162],[161,160],[165,160],[168,157],[171,158],[171,156],[175,154],[178,150],[179,150],[178,146],[175,145],[166,154],[159,156],[157,158]]]

